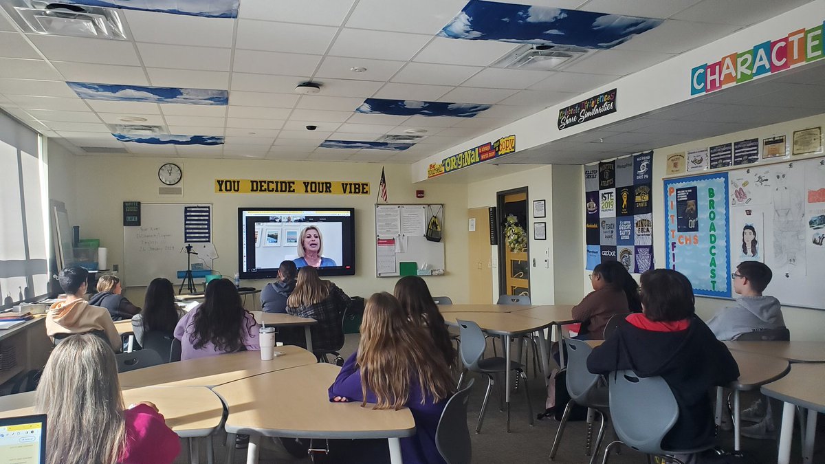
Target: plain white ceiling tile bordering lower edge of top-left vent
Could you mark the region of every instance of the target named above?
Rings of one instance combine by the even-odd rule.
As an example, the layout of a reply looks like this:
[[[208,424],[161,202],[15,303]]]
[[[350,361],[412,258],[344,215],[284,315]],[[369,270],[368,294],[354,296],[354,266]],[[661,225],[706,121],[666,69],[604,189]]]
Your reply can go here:
[[[140,60],[132,42],[85,37],[40,36],[27,34],[29,40],[47,59],[79,63],[123,64],[138,66]]]

